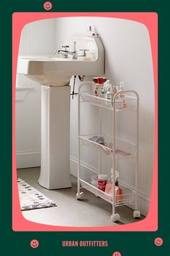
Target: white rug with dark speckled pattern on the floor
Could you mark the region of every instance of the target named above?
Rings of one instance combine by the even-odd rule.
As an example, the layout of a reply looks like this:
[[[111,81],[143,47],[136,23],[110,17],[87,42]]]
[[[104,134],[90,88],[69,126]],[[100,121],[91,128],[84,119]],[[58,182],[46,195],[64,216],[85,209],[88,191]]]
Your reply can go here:
[[[50,200],[48,197],[45,197],[45,195],[34,187],[31,187],[22,179],[18,178],[17,183],[21,210],[32,210],[57,206],[55,202]]]

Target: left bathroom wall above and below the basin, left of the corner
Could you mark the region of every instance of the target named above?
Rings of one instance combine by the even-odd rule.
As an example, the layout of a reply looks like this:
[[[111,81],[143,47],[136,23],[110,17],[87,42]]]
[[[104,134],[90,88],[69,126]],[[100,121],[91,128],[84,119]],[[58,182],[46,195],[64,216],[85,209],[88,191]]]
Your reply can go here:
[[[40,20],[23,28],[19,55],[51,55],[54,49],[55,20]],[[40,166],[40,90],[36,82],[17,76],[17,168]]]

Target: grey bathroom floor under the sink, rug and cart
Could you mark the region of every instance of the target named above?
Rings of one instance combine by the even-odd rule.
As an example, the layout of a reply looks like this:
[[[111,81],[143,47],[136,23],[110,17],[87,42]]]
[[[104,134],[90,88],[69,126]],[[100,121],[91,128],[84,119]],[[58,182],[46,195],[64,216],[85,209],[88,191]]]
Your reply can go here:
[[[22,211],[27,220],[55,226],[112,226],[139,221],[133,219],[133,210],[122,206],[117,208],[121,221],[112,223],[110,219],[112,205],[86,190],[84,190],[84,200],[76,200],[76,178],[74,176],[71,176],[71,188],[48,190],[37,183],[40,168],[18,169],[17,174],[20,179],[35,187],[58,205],[54,208]]]

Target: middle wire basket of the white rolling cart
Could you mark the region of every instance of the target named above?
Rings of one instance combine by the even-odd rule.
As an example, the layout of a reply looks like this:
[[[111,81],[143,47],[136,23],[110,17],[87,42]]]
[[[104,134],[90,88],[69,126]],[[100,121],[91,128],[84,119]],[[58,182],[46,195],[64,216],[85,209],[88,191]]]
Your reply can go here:
[[[112,137],[109,135],[102,135],[104,140],[104,145],[99,144],[91,140],[94,136],[99,135],[80,135],[81,145],[86,145],[91,148],[96,148],[106,155],[112,156]],[[125,142],[124,140],[115,139],[115,158],[134,158],[136,155],[136,145]]]

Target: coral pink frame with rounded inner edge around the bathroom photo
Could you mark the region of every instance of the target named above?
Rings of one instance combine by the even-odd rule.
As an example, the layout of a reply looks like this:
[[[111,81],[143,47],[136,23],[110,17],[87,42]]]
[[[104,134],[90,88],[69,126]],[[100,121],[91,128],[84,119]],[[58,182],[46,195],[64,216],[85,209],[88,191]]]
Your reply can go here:
[[[17,56],[22,28],[29,22],[57,17],[110,17],[143,23],[151,40],[155,88],[155,152],[153,185],[148,216],[137,223],[120,226],[68,227],[27,221],[20,210],[15,152],[15,88]],[[156,231],[158,229],[158,14],[155,12],[15,12],[12,15],[12,229],[14,231]]]

